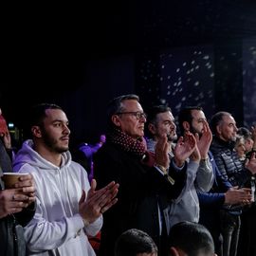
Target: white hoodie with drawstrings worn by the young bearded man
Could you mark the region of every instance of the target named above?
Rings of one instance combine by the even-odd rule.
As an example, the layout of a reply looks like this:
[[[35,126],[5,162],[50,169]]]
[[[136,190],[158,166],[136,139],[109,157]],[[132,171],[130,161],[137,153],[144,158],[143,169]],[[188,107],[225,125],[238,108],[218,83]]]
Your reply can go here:
[[[82,190],[90,189],[86,171],[71,160],[69,152],[61,167],[48,162],[32,149],[32,140],[23,143],[13,163],[15,172],[33,174],[37,209],[25,228],[28,255],[94,256],[87,235],[96,235],[102,217],[84,227],[79,212]]]

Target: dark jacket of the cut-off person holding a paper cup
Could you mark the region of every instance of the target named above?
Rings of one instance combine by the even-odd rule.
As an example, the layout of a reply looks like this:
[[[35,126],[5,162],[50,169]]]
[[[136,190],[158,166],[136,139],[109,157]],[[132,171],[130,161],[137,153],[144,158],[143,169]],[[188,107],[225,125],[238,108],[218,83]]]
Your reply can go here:
[[[11,162],[5,147],[0,139],[0,175],[3,171],[12,172]],[[4,190],[4,184],[0,179],[0,190]],[[0,204],[0,207],[1,204]],[[1,256],[24,256],[26,243],[23,236],[23,228],[27,225],[35,212],[35,204],[31,204],[26,210],[16,214],[10,214],[0,219],[0,255]]]

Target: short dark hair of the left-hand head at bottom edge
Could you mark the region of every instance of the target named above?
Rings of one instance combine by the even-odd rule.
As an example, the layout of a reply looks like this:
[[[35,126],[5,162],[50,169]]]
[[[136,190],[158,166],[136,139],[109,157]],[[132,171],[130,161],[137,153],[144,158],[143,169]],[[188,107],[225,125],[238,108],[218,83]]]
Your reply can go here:
[[[140,229],[124,231],[115,244],[115,256],[137,256],[137,253],[157,252],[154,240]]]

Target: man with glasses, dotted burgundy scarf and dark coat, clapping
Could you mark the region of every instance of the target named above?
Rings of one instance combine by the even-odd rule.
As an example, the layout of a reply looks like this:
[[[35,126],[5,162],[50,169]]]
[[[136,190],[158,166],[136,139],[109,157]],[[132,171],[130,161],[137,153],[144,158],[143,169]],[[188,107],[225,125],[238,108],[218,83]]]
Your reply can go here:
[[[119,182],[119,201],[106,212],[101,229],[100,255],[114,255],[115,241],[127,229],[147,232],[158,247],[158,255],[167,255],[167,231],[163,209],[182,191],[187,164],[168,156],[167,137],[161,137],[155,154],[147,151],[144,139],[146,115],[137,95],[123,95],[108,105],[106,142],[94,158],[99,187],[108,180]],[[180,143],[180,151],[193,151],[195,141]],[[169,169],[169,174],[167,174]]]

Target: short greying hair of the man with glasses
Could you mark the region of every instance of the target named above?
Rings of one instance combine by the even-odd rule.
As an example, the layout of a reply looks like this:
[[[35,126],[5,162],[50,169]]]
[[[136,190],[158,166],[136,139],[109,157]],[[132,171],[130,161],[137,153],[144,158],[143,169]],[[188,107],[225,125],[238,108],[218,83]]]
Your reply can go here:
[[[107,124],[108,127],[112,127],[113,123],[112,123],[112,116],[122,112],[122,101],[125,100],[136,100],[139,102],[139,97],[136,94],[126,94],[126,95],[121,95],[117,98],[114,98],[112,101],[110,101],[107,105]]]

